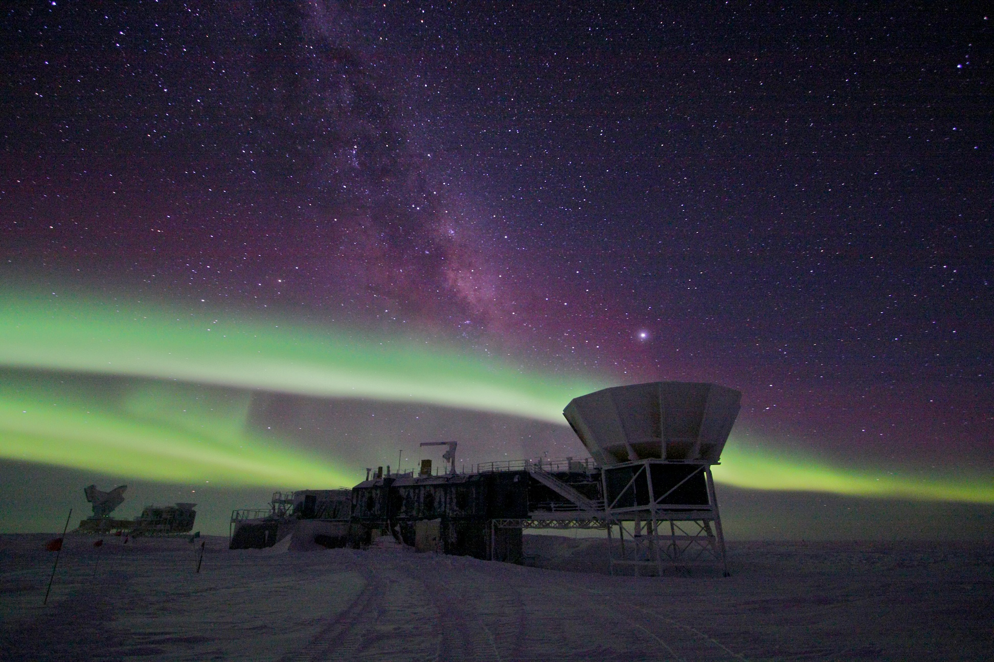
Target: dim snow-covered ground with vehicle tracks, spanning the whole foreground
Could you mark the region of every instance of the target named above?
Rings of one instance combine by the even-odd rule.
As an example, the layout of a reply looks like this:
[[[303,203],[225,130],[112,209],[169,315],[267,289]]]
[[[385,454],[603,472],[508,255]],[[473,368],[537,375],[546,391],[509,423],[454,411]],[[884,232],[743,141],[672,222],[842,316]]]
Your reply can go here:
[[[596,539],[527,536],[527,568],[208,538],[198,575],[199,542],[70,537],[43,606],[50,537],[0,536],[0,659],[994,660],[989,544],[731,542],[731,578],[637,579]]]

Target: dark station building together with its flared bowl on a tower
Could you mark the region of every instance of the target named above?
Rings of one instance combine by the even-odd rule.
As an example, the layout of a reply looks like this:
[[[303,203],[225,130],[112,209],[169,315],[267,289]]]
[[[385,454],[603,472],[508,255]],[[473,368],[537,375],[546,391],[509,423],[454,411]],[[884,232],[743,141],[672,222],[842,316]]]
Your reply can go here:
[[[711,466],[741,399],[735,389],[698,382],[601,389],[564,410],[589,459],[486,463],[456,473],[456,443],[427,442],[421,446],[448,447],[442,458],[451,472],[432,475],[422,460],[416,475],[368,469],[351,490],[274,494],[265,516],[233,512],[232,547],[268,546],[292,527],[291,544],[299,535],[307,544],[362,548],[389,536],[422,552],[520,563],[526,528],[600,529],[612,573],[720,564],[727,576]]]

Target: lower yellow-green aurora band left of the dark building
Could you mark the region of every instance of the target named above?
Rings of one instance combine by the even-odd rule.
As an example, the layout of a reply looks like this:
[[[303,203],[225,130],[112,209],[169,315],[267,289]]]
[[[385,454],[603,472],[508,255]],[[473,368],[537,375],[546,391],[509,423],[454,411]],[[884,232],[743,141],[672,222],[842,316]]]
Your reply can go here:
[[[250,393],[146,382],[118,397],[78,388],[0,390],[0,457],[161,482],[354,483],[354,473],[247,430]],[[34,392],[32,392],[34,391]]]

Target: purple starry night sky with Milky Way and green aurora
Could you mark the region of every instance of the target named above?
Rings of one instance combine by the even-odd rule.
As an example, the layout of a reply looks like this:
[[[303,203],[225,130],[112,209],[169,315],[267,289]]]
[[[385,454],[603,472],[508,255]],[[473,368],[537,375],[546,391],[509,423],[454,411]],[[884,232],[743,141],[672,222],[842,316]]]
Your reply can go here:
[[[571,397],[681,379],[744,393],[730,534],[989,535],[982,11],[4,11],[8,529],[89,482],[223,530],[421,441],[580,457]]]

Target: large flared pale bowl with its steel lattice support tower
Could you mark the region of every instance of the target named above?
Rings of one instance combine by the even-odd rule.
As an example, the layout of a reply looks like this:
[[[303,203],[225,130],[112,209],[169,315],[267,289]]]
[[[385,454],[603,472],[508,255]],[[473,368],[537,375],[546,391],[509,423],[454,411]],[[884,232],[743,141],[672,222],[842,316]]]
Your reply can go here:
[[[728,576],[711,465],[741,400],[725,386],[670,381],[605,388],[567,405],[563,415],[601,466],[611,573],[720,564]]]

